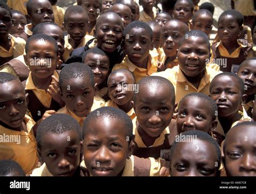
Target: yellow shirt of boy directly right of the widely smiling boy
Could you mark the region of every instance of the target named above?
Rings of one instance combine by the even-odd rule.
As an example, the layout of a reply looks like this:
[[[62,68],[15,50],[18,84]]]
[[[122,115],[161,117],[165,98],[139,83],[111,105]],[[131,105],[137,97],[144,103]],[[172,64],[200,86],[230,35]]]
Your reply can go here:
[[[151,75],[152,73],[157,72],[157,60],[158,60],[158,57],[152,57],[151,54],[149,54],[149,59],[147,60],[147,68],[145,69],[145,68],[140,68],[134,65],[126,55],[122,63],[114,65],[112,71],[118,70],[121,68],[130,70],[134,74],[136,83],[138,83],[140,79],[145,78]]]

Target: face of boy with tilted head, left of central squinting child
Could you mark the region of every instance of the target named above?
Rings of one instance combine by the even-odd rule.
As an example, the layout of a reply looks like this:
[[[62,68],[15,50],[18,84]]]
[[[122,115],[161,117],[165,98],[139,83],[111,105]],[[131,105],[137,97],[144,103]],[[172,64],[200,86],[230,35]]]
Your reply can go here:
[[[72,78],[62,86],[62,100],[66,107],[79,117],[87,116],[93,105],[95,89],[89,78]]]

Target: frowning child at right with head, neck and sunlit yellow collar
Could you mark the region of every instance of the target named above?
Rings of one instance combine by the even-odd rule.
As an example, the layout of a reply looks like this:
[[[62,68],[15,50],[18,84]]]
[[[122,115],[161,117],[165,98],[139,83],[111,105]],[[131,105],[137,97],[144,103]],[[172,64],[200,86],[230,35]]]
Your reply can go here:
[[[211,98],[218,106],[218,126],[216,131],[225,136],[231,127],[241,121],[250,121],[246,111],[240,106],[244,105],[247,95],[242,79],[231,72],[216,75],[210,85]]]

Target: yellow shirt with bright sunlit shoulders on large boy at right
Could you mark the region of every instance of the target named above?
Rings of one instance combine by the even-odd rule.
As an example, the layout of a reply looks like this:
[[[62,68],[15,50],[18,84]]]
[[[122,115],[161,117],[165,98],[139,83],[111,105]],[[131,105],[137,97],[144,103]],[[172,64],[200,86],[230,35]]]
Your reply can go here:
[[[209,95],[211,81],[215,75],[219,73],[221,73],[221,71],[216,71],[211,67],[206,67],[204,77],[201,79],[198,88],[194,87],[193,84],[186,79],[179,66],[175,66],[172,69],[168,68],[163,72],[154,73],[152,75],[164,77],[172,82],[176,94],[175,102],[179,103],[185,95],[192,92],[200,92]]]

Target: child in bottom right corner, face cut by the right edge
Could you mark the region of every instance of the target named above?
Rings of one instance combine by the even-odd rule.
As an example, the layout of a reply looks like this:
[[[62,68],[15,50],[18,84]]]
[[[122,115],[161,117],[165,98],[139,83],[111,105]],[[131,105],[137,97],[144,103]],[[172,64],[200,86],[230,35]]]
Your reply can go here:
[[[256,122],[241,122],[226,135],[223,163],[227,176],[256,176]]]

